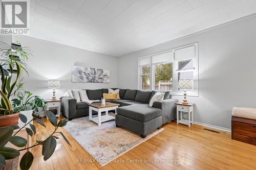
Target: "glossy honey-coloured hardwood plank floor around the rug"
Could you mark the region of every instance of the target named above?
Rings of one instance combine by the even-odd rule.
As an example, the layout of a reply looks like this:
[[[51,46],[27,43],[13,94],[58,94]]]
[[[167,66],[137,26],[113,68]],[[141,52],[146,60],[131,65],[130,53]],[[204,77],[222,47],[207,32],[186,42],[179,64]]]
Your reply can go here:
[[[32,144],[35,138],[44,139],[54,130],[49,120],[42,120],[47,129],[34,122],[37,133]],[[230,133],[217,134],[202,126],[188,128],[176,123],[165,124],[163,128],[164,131],[103,167],[97,161],[93,162],[93,157],[64,128],[59,128],[72,148],[56,134],[59,137],[57,147],[47,161],[41,156],[41,146],[32,149],[34,162],[31,169],[256,169],[256,146],[232,140]],[[136,163],[136,160],[142,162]],[[178,162],[172,163],[175,160]]]

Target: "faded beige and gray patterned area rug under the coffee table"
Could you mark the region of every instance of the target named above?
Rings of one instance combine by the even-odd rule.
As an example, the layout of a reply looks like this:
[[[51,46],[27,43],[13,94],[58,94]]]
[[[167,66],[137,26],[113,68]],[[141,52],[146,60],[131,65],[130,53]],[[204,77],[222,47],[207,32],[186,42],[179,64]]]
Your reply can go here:
[[[117,128],[115,120],[101,123],[98,127],[89,121],[89,116],[74,118],[67,123],[65,129],[101,166],[164,130],[156,130],[143,139],[130,130]]]

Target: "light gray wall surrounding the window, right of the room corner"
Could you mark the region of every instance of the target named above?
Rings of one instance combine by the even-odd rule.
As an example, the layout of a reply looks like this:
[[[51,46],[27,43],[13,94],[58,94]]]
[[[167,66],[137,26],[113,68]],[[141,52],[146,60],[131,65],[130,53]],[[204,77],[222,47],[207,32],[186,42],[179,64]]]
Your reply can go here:
[[[256,108],[256,16],[118,58],[118,87],[137,88],[138,57],[199,43],[195,121],[231,128],[232,107]],[[182,101],[182,96],[173,96]]]

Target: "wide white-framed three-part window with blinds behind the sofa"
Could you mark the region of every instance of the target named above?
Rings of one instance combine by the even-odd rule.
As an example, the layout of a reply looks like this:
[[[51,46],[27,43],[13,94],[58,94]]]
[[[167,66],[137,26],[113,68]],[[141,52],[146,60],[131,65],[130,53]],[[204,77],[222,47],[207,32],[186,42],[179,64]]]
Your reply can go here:
[[[179,81],[189,80],[188,95],[198,96],[198,44],[190,44],[162,53],[139,58],[139,88],[171,91],[183,95]]]

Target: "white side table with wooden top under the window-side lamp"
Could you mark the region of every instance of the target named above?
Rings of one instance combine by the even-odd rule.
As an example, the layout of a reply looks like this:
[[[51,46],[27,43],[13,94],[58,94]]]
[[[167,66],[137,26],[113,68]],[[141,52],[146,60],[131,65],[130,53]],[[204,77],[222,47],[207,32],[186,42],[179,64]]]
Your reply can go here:
[[[177,105],[177,124],[185,124],[190,127],[194,123],[194,103],[175,103]],[[188,119],[183,119],[182,112],[188,113]]]

